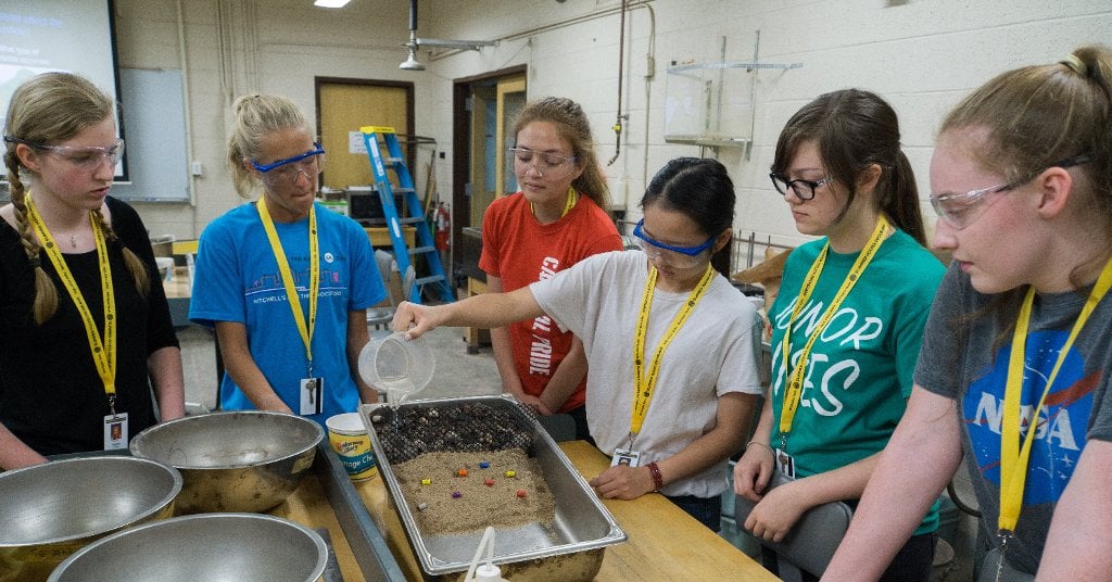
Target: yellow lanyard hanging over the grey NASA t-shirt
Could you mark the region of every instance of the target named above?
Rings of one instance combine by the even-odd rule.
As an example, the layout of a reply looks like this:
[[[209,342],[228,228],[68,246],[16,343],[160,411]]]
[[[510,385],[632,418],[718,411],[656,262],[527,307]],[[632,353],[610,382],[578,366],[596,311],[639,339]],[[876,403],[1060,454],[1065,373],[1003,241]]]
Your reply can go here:
[[[1023,504],[1023,485],[1027,479],[1027,461],[1031,458],[1031,445],[1034,443],[1035,433],[1039,431],[1035,421],[1039,411],[1046,402],[1046,395],[1058,377],[1059,369],[1065,361],[1065,354],[1073,346],[1074,339],[1081,333],[1089,316],[1092,315],[1096,304],[1104,298],[1109,288],[1112,287],[1112,259],[1101,270],[1101,276],[1096,279],[1096,285],[1089,294],[1084,307],[1078,315],[1078,320],[1073,323],[1073,329],[1058,353],[1058,361],[1051,368],[1050,376],[1046,377],[1046,387],[1043,388],[1039,405],[1031,410],[1031,420],[1027,423],[1027,434],[1023,437],[1023,447],[1020,448],[1020,396],[1023,393],[1023,364],[1027,337],[1027,325],[1031,322],[1031,308],[1034,305],[1035,289],[1027,289],[1023,304],[1020,306],[1020,314],[1015,319],[1015,332],[1012,335],[1012,352],[1007,362],[1007,383],[1004,385],[1004,416],[1001,425],[1000,443],[1000,520],[1001,534],[1014,532],[1015,524],[1020,520],[1020,509]]]

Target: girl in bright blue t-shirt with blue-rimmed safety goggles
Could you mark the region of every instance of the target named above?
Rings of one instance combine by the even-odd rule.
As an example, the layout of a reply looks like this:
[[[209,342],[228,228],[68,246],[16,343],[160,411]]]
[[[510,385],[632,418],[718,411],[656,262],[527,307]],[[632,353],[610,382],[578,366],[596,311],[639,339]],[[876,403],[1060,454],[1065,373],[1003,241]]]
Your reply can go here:
[[[198,244],[189,318],[216,328],[226,410],[294,413],[321,424],[377,393],[358,374],[367,307],[386,287],[366,231],[316,203],[325,150],[288,98],[235,105],[236,190],[262,196],[217,218]]]

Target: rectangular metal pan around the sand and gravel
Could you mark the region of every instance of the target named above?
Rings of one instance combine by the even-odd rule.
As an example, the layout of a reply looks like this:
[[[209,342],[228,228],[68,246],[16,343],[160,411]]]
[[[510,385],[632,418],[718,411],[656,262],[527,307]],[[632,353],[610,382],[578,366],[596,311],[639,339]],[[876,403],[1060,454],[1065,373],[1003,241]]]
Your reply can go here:
[[[515,582],[593,580],[602,566],[604,549],[624,542],[626,534],[556,442],[513,396],[415,399],[398,405],[397,411],[386,404],[365,404],[359,412],[370,434],[379,475],[390,492],[390,501],[398,512],[426,580],[458,579],[458,574],[449,574],[468,569],[483,532],[428,535],[419,531],[391,467],[391,461],[400,463],[407,458],[391,460],[391,452],[395,456],[400,454],[385,442],[384,438],[388,436],[380,435],[379,432],[387,432],[385,423],[390,422],[389,418],[394,418],[395,414],[406,412],[404,408],[407,407],[435,408],[439,413],[458,412],[465,405],[476,404],[489,406],[512,417],[510,424],[526,436],[523,447],[530,457],[537,460],[556,501],[556,515],[550,526],[534,523],[517,527],[496,527],[493,562],[502,568],[504,576]],[[436,445],[423,445],[428,446]],[[484,552],[484,561],[485,558]]]

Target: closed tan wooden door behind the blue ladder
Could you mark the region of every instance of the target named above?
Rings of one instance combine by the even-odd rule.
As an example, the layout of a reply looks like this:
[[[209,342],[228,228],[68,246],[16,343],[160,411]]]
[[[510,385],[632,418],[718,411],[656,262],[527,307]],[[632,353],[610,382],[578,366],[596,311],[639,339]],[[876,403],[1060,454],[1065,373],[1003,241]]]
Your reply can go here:
[[[413,83],[320,77],[316,83],[317,127],[328,158],[321,186],[341,190],[373,185],[359,128],[388,126],[413,135]],[[407,157],[411,164],[411,152]]]

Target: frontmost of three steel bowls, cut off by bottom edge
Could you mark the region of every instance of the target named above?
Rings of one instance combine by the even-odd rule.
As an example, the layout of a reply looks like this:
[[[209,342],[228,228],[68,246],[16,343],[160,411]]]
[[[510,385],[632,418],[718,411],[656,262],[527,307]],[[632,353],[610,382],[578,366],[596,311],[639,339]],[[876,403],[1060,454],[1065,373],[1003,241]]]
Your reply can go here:
[[[98,540],[62,562],[49,582],[310,582],[327,558],[320,534],[289,520],[201,513]]]

